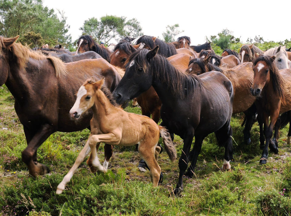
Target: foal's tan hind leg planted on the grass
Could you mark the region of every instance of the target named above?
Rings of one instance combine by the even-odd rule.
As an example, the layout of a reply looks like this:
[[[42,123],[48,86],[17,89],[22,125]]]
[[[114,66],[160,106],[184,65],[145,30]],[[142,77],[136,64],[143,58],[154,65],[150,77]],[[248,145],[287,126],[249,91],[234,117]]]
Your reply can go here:
[[[149,145],[145,141],[139,144],[139,153],[142,156],[142,159],[146,162],[146,165],[149,167],[149,175],[154,187],[158,186],[161,173],[161,168],[155,158],[156,151],[157,149],[154,146],[149,149]]]

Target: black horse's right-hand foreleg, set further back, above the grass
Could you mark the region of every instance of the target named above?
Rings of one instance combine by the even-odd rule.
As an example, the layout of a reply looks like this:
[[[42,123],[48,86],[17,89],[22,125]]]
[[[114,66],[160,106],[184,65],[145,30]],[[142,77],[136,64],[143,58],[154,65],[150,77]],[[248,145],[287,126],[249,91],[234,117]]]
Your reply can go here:
[[[185,173],[185,176],[188,178],[193,177],[194,168],[195,168],[196,162],[197,162],[197,157],[201,151],[202,142],[203,142],[203,139],[205,137],[206,136],[198,136],[198,135],[195,136],[195,142],[194,142],[193,149],[189,153],[189,161],[192,161],[192,162],[191,162],[191,165],[188,167],[187,172]]]

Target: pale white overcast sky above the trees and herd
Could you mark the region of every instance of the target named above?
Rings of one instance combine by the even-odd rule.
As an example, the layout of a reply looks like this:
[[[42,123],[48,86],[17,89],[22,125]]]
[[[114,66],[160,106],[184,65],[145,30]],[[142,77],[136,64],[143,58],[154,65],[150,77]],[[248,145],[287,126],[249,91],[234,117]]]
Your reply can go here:
[[[159,36],[167,25],[178,23],[179,36],[190,36],[192,45],[206,42],[205,36],[229,29],[246,42],[248,37],[263,36],[265,41],[291,38],[290,0],[200,0],[200,1],[65,1],[43,0],[49,8],[63,10],[70,25],[72,40],[81,36],[79,28],[86,19],[105,15],[136,18],[145,35]],[[113,41],[112,41],[113,43]]]

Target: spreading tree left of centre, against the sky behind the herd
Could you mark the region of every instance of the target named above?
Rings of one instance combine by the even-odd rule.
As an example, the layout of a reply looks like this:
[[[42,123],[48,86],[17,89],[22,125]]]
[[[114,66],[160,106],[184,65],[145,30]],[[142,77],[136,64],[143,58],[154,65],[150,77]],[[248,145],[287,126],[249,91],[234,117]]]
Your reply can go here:
[[[102,16],[100,21],[95,17],[85,20],[80,30],[83,34],[91,35],[98,43],[102,41],[105,44],[111,39],[142,34],[142,28],[136,19],[126,21],[124,16],[113,15]]]

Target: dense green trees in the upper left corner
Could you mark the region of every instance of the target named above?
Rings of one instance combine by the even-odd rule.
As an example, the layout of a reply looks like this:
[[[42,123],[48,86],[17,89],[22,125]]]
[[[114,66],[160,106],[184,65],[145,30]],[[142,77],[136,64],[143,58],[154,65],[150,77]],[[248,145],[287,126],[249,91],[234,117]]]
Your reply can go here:
[[[4,0],[0,2],[0,34],[5,37],[20,35],[23,42],[34,42],[35,45],[40,41],[36,43],[36,37],[28,38],[28,32],[34,32],[39,33],[42,42],[50,46],[56,43],[68,46],[72,43],[71,36],[66,35],[69,26],[64,13],[59,14],[61,19],[53,9],[44,7],[41,0]]]

